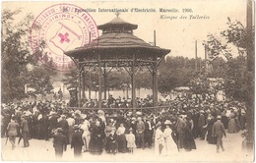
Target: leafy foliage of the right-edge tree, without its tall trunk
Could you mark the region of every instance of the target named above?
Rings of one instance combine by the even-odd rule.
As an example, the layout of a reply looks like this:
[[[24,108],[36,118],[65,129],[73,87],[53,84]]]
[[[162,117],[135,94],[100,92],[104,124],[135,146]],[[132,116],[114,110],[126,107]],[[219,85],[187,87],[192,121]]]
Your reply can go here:
[[[231,22],[229,18],[227,25],[228,27],[221,32],[225,42],[221,42],[212,34],[206,41],[209,45],[209,57],[222,67],[222,70],[219,70],[220,73],[210,73],[208,76],[219,74],[224,78],[224,91],[227,97],[248,101],[253,98],[254,66],[253,71],[248,71],[247,66],[249,60],[254,60],[254,57],[246,54],[248,47],[254,47],[254,34],[252,34],[254,31],[248,31],[240,22]],[[231,50],[230,45],[233,45],[232,47],[236,48],[236,51]],[[227,59],[226,62],[220,60],[222,54]]]

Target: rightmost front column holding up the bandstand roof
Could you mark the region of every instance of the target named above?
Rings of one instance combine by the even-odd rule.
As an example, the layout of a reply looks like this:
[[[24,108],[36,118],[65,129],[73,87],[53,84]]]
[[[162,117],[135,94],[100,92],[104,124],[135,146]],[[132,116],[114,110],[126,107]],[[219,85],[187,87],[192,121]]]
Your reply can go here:
[[[153,106],[158,106],[158,60],[157,56],[154,58],[154,65],[153,65]]]

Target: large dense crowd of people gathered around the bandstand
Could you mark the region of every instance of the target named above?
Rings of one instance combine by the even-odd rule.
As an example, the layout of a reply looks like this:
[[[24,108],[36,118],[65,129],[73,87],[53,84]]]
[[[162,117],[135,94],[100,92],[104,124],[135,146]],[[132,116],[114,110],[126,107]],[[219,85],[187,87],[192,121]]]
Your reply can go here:
[[[151,103],[151,99],[145,99]],[[107,100],[111,107],[112,96]],[[147,102],[146,102],[147,103]],[[80,109],[65,101],[34,101],[2,104],[1,136],[15,149],[16,136],[29,147],[31,138],[49,140],[57,157],[67,145],[74,155],[133,153],[136,148],[155,148],[157,155],[196,149],[195,138],[217,144],[224,150],[222,137],[245,130],[244,103],[178,96],[160,101],[160,109]],[[128,107],[128,106],[127,106]],[[122,107],[123,108],[123,107]]]

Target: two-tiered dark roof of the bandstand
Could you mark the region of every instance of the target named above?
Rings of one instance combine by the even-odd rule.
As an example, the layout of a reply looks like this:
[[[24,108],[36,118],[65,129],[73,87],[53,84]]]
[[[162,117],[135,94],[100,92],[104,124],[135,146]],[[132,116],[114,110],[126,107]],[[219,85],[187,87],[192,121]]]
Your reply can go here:
[[[98,29],[104,31],[107,27],[115,26],[125,26],[129,29],[137,28],[137,25],[129,24],[117,17],[109,23],[98,26]],[[77,47],[74,50],[66,51],[65,54],[76,59],[87,58],[94,54],[100,54],[102,56],[135,54],[138,56],[157,55],[158,57],[162,57],[169,52],[169,49],[163,49],[145,42],[143,39],[133,35],[132,31],[112,31],[102,32],[102,35],[92,42],[82,47]]]

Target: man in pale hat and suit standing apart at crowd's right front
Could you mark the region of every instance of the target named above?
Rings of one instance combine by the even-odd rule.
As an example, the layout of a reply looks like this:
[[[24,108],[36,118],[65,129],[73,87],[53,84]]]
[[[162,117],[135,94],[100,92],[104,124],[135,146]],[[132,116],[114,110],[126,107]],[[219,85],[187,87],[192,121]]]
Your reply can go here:
[[[217,122],[213,126],[212,134],[213,136],[217,137],[217,152],[219,153],[220,146],[222,147],[224,151],[224,142],[223,142],[223,136],[225,136],[224,132],[224,124],[221,122],[222,117],[217,117]]]

